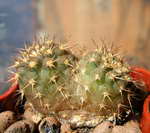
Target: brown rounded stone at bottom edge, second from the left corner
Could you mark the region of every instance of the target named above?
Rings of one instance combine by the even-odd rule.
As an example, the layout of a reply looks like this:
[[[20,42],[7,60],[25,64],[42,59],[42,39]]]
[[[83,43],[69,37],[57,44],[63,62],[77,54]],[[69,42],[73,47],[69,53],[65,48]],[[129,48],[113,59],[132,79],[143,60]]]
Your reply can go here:
[[[34,133],[35,124],[28,120],[17,121],[6,129],[4,133]]]

